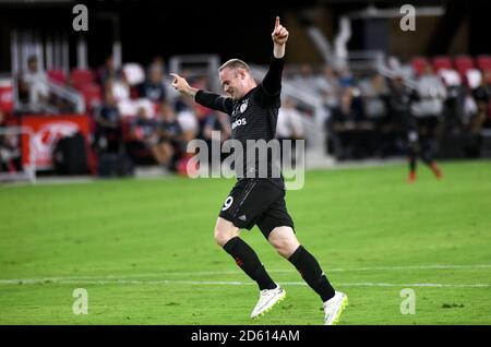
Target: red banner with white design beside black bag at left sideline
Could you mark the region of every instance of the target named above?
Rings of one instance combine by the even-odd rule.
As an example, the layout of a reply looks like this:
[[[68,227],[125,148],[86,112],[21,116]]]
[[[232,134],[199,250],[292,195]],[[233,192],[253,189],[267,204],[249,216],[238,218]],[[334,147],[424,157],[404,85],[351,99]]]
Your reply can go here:
[[[85,115],[24,116],[22,127],[34,132],[33,148],[29,145],[29,136],[22,135],[23,165],[28,165],[31,151],[34,151],[37,169],[52,168],[51,154],[58,140],[71,136],[79,131],[85,139],[89,134],[88,117]]]

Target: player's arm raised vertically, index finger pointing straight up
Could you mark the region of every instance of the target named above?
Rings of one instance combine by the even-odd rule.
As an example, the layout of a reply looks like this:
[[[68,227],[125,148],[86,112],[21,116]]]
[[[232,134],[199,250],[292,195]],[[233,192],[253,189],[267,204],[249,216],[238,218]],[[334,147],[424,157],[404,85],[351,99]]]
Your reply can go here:
[[[273,57],[271,58],[270,69],[262,83],[264,91],[268,95],[276,95],[282,88],[282,73],[288,35],[288,31],[279,23],[279,16],[277,16],[275,28],[271,34],[273,39]]]

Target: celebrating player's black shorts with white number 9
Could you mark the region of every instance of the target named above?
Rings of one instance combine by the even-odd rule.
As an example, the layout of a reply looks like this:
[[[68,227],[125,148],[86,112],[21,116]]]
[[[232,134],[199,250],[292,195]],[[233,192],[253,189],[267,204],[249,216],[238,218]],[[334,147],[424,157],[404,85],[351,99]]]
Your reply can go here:
[[[285,190],[267,179],[239,180],[225,200],[219,216],[240,229],[250,230],[258,225],[267,239],[276,227],[294,230],[285,203]]]

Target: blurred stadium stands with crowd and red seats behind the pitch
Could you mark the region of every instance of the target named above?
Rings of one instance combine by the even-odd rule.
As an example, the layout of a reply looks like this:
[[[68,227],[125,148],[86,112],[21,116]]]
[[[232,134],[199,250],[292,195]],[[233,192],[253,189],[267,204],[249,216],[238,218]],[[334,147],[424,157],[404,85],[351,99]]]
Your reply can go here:
[[[486,1],[414,1],[414,32],[400,29],[403,3],[391,1],[94,1],[87,32],[72,27],[75,4],[0,1],[3,179],[177,170],[189,140],[230,130],[224,115],[176,95],[167,73],[219,92],[217,67],[240,57],[260,79],[275,14],[292,33],[280,135],[306,139],[308,165],[406,155],[394,76],[419,97],[414,113],[431,120],[440,158],[491,155]],[[346,117],[332,117],[340,109]]]

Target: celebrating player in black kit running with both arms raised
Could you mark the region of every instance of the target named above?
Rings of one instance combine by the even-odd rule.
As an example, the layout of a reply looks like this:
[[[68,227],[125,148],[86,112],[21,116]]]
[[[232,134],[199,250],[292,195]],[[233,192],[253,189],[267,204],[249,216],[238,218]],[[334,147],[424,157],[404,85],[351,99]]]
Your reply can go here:
[[[228,97],[193,88],[175,73],[171,73],[172,86],[180,93],[194,97],[196,103],[229,115],[232,139],[240,141],[248,152],[247,140],[268,142],[275,137],[288,35],[288,31],[279,23],[279,17],[276,17],[272,33],[273,57],[260,85],[256,85],[247,63],[231,59],[218,70],[223,91]],[[285,289],[271,278],[254,250],[239,237],[240,229],[250,230],[258,225],[267,241],[294,264],[307,284],[321,297],[325,313],[324,324],[335,324],[348,303],[348,297],[334,290],[315,258],[298,241],[285,203],[283,177],[272,175],[271,158],[267,157],[267,160],[268,170],[265,178],[259,177],[258,157],[255,163],[243,160],[242,178],[238,177],[238,182],[226,199],[216,222],[215,240],[235,259],[237,265],[258,283],[260,298],[251,313],[252,319],[264,314],[286,296]],[[251,178],[250,174],[255,176]]]

